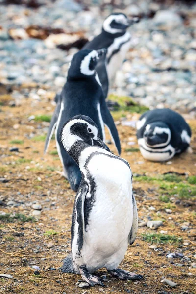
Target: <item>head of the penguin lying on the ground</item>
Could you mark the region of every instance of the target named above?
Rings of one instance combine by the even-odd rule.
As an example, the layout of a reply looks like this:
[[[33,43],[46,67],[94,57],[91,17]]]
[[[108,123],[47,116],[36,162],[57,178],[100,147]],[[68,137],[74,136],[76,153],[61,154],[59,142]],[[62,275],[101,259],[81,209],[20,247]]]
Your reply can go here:
[[[148,147],[163,147],[171,140],[171,130],[166,123],[149,123],[144,130],[143,137]]]

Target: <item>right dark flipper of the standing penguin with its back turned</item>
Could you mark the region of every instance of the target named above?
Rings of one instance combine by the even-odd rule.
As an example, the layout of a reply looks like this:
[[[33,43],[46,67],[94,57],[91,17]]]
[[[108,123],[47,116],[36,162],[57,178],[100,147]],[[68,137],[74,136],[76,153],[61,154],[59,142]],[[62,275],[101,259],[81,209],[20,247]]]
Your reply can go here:
[[[114,144],[117,148],[117,151],[120,155],[121,154],[121,143],[119,140],[118,131],[117,131],[116,125],[114,123],[113,117],[106,106],[105,101],[103,101],[102,106],[101,106],[101,115],[102,115],[103,123],[107,126],[107,128],[110,132],[110,136],[112,137],[112,141],[114,142]]]

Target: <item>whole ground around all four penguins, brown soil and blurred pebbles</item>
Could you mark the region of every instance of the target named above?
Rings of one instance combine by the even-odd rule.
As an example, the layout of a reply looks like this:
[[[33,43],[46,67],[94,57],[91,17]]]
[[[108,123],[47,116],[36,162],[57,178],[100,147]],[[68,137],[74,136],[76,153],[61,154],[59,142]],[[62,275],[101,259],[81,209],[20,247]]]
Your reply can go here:
[[[43,155],[53,98],[77,50],[72,44],[82,38],[76,43],[80,47],[85,38],[98,34],[113,7],[87,10],[86,4],[68,0],[47,1],[38,9],[0,5],[0,275],[13,277],[0,277],[0,293],[195,293],[196,5],[175,3],[169,7],[172,16],[167,12],[163,17],[156,11],[168,9],[164,4],[136,4],[125,11],[142,20],[131,28],[133,48],[117,73],[110,99],[119,104],[112,114],[122,157],[134,174],[140,223],[121,267],[145,279],[119,281],[101,269],[106,287],[82,289],[79,276],[61,274],[62,259],[70,252],[75,193],[61,177],[54,140]],[[167,22],[160,24],[161,17]],[[57,44],[70,49],[58,49]],[[155,106],[170,106],[184,115],[193,131],[192,151],[166,163],[141,156],[133,125],[146,107]],[[116,153],[110,143],[107,136]],[[160,227],[147,227],[147,221],[159,221]],[[177,285],[171,288],[164,279]]]

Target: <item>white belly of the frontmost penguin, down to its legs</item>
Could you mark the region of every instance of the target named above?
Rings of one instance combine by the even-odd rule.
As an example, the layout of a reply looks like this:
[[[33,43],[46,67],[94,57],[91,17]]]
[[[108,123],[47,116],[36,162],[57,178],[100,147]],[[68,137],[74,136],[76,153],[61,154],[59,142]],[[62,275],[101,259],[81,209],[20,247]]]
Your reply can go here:
[[[87,170],[96,191],[81,255],[89,272],[94,272],[116,268],[123,260],[133,222],[132,183],[129,167],[109,156],[95,155]]]

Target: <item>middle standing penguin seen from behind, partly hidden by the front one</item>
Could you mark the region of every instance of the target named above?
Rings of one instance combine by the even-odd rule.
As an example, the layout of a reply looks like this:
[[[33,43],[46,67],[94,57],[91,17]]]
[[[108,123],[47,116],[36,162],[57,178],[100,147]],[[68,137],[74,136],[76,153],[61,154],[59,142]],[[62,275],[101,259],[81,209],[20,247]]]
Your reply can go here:
[[[71,61],[67,82],[57,99],[56,109],[51,119],[45,143],[45,152],[49,146],[52,133],[56,127],[56,147],[63,165],[65,177],[71,188],[77,191],[81,173],[78,165],[65,151],[60,141],[60,130],[65,121],[77,114],[90,116],[98,125],[100,137],[104,140],[104,124],[108,127],[119,154],[121,145],[113,118],[106,106],[102,87],[95,71],[99,56],[106,55],[106,49],[81,50]]]

